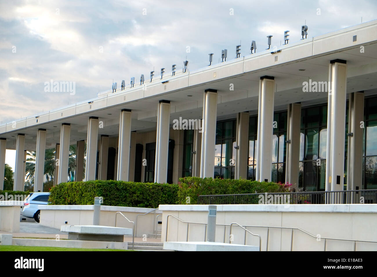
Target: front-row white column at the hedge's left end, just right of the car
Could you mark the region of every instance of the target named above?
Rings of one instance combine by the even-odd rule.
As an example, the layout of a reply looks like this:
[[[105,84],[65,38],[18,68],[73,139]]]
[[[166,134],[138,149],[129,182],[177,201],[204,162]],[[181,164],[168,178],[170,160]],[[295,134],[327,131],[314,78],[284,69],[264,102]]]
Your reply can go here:
[[[68,180],[69,139],[70,124],[62,123],[60,129],[58,184],[65,183]]]

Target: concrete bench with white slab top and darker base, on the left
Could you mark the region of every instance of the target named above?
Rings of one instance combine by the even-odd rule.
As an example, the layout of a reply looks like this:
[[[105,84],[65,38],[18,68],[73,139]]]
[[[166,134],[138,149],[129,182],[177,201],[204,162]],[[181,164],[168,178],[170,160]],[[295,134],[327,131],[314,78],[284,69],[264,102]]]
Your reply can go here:
[[[132,235],[132,229],[101,225],[62,225],[61,232],[68,233],[69,240],[97,240],[123,242],[124,235]]]

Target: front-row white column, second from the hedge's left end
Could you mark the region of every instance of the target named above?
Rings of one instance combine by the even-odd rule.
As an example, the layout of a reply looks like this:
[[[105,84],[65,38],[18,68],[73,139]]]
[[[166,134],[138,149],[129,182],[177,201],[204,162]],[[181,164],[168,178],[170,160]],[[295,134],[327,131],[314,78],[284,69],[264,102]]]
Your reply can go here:
[[[97,168],[98,117],[90,116],[86,141],[85,181],[95,180]]]

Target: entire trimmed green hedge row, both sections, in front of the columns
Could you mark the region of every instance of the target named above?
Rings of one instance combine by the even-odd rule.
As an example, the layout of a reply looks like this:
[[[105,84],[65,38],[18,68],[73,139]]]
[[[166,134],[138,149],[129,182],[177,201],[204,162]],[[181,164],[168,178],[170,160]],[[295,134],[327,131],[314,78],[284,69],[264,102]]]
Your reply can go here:
[[[288,185],[245,179],[185,177],[178,185],[97,180],[61,183],[51,188],[49,201],[52,205],[93,205],[94,197],[102,196],[103,205],[157,208],[160,204],[196,204],[199,195],[288,190]]]

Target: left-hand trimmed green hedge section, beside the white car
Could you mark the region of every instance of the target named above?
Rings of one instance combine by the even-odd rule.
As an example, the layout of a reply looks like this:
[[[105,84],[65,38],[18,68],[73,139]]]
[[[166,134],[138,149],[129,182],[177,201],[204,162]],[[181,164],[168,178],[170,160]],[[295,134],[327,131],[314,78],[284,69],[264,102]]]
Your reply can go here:
[[[51,205],[93,205],[102,196],[103,205],[157,208],[177,204],[178,185],[123,181],[86,181],[61,183],[50,190]]]

